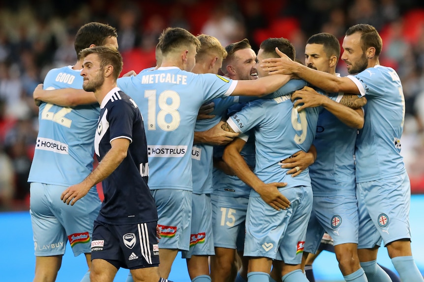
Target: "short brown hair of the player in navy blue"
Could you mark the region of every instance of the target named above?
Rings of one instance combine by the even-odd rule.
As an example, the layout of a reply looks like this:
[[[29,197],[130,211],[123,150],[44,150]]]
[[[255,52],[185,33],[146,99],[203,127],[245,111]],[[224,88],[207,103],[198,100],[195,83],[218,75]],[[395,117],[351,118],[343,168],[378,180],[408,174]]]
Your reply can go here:
[[[104,68],[106,65],[112,65],[113,76],[115,79],[118,79],[123,65],[122,56],[118,50],[107,46],[95,46],[83,49],[80,51],[79,56],[81,59],[84,59],[90,54],[96,54],[99,57],[101,68]]]

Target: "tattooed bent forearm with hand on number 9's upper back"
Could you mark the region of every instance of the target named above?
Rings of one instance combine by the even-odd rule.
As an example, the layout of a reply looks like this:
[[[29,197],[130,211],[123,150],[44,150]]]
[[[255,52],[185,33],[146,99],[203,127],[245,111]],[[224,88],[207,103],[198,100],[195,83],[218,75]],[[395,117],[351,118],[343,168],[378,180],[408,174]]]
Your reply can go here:
[[[356,95],[344,96],[347,96],[347,98],[343,101],[343,103],[350,104],[352,106],[356,106],[355,104],[360,103],[354,102],[361,99]],[[301,90],[295,91],[292,94],[292,101],[294,101],[294,106],[299,106],[299,111],[307,107],[323,106],[347,126],[358,129],[363,128],[364,119],[362,110],[354,110],[342,103],[337,103],[327,96],[316,92],[311,87],[305,86]],[[364,100],[361,101],[363,102]]]

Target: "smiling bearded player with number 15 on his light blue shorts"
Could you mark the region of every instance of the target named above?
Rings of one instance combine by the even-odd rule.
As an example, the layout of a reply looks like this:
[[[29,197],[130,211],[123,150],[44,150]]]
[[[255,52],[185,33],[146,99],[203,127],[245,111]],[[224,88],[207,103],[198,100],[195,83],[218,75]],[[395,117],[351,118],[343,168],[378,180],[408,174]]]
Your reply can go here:
[[[221,71],[226,77],[237,80],[258,78],[256,53],[252,50],[247,39],[232,43],[225,49],[228,54],[222,63]],[[241,105],[234,105],[231,108],[240,110]],[[255,166],[255,147],[252,140],[253,138],[249,139],[241,152],[250,167]],[[235,273],[233,274],[234,271],[232,270],[237,268],[235,265],[236,250],[239,251],[242,262],[240,271],[236,270],[236,281],[246,280],[247,258],[243,257],[242,250],[250,187],[235,176],[222,160],[223,147],[215,147],[213,150],[214,168],[211,199],[215,256],[211,257],[212,282],[234,281],[232,276]]]

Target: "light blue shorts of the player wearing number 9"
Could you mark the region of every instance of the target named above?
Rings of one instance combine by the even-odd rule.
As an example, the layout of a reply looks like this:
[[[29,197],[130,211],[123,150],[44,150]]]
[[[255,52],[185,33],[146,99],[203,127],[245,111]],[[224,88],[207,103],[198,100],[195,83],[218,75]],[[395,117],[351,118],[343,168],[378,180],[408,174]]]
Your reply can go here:
[[[260,197],[249,198],[243,255],[300,264],[312,210],[312,188],[297,186],[278,190],[291,202],[286,210],[277,211]]]

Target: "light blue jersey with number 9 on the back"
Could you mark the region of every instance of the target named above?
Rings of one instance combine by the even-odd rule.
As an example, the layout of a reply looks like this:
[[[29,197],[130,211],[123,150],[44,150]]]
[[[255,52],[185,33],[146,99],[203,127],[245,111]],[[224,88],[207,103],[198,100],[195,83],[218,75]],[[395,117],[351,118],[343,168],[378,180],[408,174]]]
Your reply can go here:
[[[277,92],[291,93],[286,86]],[[306,108],[298,112],[293,107],[290,95],[274,99],[260,99],[249,102],[243,109],[232,115],[227,123],[236,132],[255,128],[256,166],[255,174],[265,183],[287,182],[285,188],[310,186],[308,169],[296,178],[287,175],[280,161],[302,150],[307,152],[313,142],[318,113],[321,107]],[[259,197],[251,190],[250,196]]]

